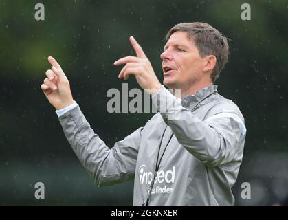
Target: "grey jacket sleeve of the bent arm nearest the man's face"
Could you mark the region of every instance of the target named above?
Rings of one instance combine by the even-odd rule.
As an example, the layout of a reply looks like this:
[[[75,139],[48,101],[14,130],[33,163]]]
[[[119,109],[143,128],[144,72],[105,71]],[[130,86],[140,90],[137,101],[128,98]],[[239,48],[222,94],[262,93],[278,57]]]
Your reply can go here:
[[[153,103],[178,142],[207,166],[241,161],[246,128],[241,113],[232,104],[203,121],[164,87],[153,96]]]

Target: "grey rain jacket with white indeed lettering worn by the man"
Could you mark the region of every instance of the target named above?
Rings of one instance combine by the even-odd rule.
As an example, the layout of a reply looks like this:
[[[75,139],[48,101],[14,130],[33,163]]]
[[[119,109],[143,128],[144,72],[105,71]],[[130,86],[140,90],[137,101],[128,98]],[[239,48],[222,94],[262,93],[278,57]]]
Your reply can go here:
[[[159,111],[173,104],[111,149],[78,106],[59,120],[98,186],[134,179],[134,206],[233,206],[246,135],[236,104],[220,96],[217,85],[183,100],[162,86],[152,102]]]

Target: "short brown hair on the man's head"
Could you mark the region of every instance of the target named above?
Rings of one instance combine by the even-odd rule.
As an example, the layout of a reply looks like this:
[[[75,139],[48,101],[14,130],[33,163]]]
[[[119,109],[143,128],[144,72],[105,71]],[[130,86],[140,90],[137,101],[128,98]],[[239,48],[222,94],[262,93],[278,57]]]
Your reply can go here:
[[[166,34],[166,41],[168,41],[170,36],[177,31],[186,32],[188,39],[194,40],[195,45],[199,50],[199,55],[202,58],[208,55],[214,55],[216,57],[217,62],[211,74],[211,79],[214,83],[221,70],[228,62],[229,46],[227,38],[208,23],[193,22],[178,23],[175,25]]]

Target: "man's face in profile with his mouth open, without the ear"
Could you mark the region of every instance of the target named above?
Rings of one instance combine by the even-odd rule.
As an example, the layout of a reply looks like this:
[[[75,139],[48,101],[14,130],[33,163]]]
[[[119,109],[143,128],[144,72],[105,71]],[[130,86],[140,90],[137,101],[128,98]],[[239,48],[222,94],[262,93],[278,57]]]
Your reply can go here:
[[[170,89],[188,89],[205,76],[205,60],[186,32],[174,32],[161,54],[164,85]]]

